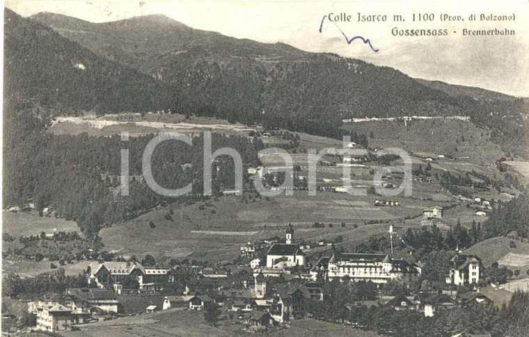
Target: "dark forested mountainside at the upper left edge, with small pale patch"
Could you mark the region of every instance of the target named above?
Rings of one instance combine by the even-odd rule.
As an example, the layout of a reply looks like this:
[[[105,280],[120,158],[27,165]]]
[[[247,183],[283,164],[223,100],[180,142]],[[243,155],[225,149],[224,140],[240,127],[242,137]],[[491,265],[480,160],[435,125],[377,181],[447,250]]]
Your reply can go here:
[[[4,90],[58,113],[168,106],[171,90],[151,76],[97,56],[32,19],[4,11]]]

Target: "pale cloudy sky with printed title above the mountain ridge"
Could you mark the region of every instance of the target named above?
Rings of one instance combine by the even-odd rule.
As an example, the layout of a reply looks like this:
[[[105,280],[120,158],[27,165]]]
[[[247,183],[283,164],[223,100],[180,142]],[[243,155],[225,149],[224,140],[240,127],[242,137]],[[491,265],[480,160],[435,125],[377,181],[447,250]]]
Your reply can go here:
[[[331,52],[395,67],[416,78],[529,97],[529,1],[5,0],[5,6],[22,16],[51,12],[90,22],[164,14],[192,28],[235,38],[284,42],[306,51]],[[346,18],[351,15],[351,21],[330,22],[331,13],[345,13]],[[386,15],[386,21],[358,22],[358,13]],[[429,14],[427,21],[418,21],[420,14]],[[441,21],[443,14],[459,15],[464,21]],[[471,14],[476,15],[475,21],[469,20]],[[507,15],[514,20],[481,21],[482,14]],[[402,15],[405,21],[395,22],[393,15]],[[394,36],[393,28],[446,28],[448,35]],[[463,36],[464,28],[507,28],[516,35]],[[358,35],[369,39],[378,51],[361,39],[349,44],[343,34],[349,39]]]

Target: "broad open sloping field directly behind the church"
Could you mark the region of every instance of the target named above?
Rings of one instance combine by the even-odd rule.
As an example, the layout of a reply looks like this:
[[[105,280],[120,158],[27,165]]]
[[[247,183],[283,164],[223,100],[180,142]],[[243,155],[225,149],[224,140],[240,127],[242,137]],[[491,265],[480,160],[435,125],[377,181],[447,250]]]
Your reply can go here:
[[[423,188],[431,189],[420,185],[417,193],[426,193]],[[100,236],[105,249],[125,256],[151,254],[157,259],[232,261],[248,240],[283,237],[289,223],[296,229],[297,240],[317,243],[342,236],[344,241],[340,245],[349,247],[388,231],[388,224],[365,225],[365,222],[401,222],[404,217],[419,216],[423,208],[446,206],[450,198],[445,195],[443,202],[395,197],[402,205],[397,207],[375,207],[374,199],[371,195],[354,197],[336,192],[309,196],[306,191],[269,200],[249,195],[219,197],[207,204],[157,208],[123,225],[102,229]],[[170,209],[173,209],[173,220],[166,220]],[[150,221],[155,223],[155,228],[150,228]],[[325,227],[314,228],[315,222],[324,223]],[[342,222],[345,227],[341,227]],[[354,224],[358,228],[354,229]],[[412,221],[405,225],[418,227],[419,223]]]

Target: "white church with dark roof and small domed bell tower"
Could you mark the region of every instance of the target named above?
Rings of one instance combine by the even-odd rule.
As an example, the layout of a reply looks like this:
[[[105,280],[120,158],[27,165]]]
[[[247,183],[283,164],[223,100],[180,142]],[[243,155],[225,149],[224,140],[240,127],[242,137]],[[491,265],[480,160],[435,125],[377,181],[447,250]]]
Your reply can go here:
[[[286,229],[285,243],[274,243],[267,252],[267,268],[285,268],[305,265],[305,253],[294,243],[294,228]]]

